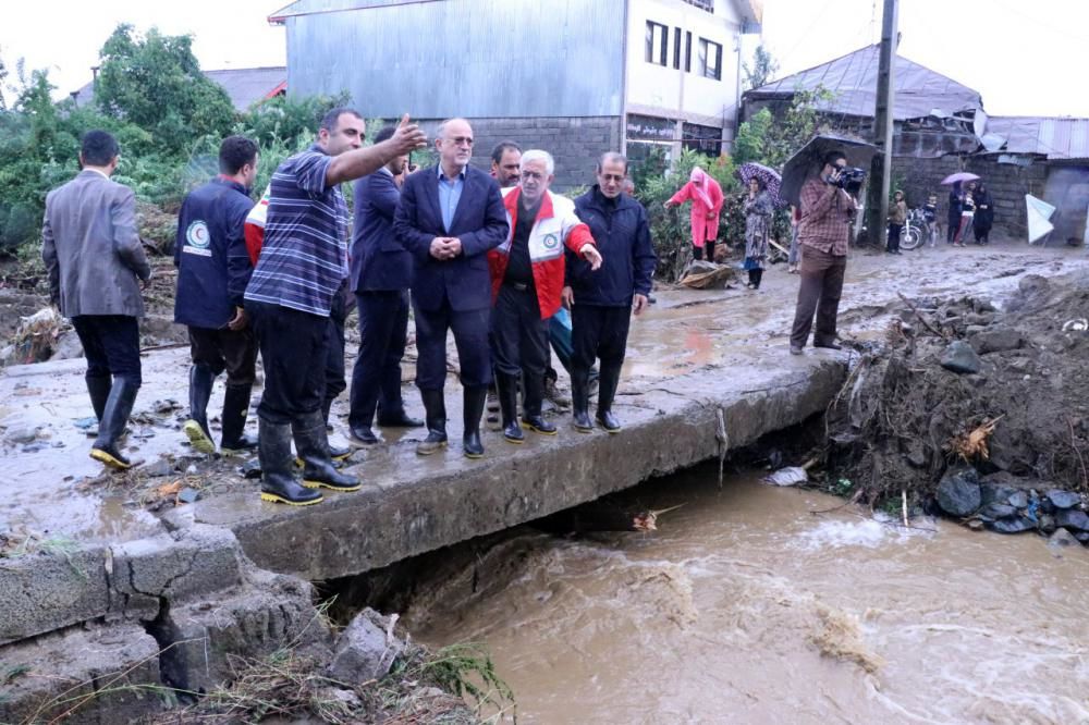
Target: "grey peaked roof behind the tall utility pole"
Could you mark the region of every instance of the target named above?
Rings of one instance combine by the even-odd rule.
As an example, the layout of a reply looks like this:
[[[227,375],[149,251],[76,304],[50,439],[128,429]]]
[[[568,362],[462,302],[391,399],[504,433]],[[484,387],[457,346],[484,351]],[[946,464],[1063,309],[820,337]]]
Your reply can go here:
[[[782,98],[797,90],[818,86],[834,94],[822,105],[829,113],[872,116],[877,100],[880,46],[867,46],[816,67],[780,78],[745,93],[747,99]],[[952,115],[957,111],[983,108],[979,91],[935,73],[925,65],[896,57],[896,85],[893,118],[919,119],[938,111]]]

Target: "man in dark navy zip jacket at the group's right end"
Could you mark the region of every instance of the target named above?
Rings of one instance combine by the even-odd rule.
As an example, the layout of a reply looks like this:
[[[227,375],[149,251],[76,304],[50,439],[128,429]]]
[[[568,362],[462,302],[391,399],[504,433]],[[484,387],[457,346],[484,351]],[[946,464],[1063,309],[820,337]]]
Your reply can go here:
[[[604,258],[601,269],[567,251],[564,304],[571,307],[574,354],[571,358],[571,398],[575,429],[594,430],[589,407],[589,373],[601,359],[597,421],[610,433],[621,429],[612,413],[624,366],[632,312],[647,308],[657,257],[650,243],[647,210],[623,193],[627,159],[605,153],[598,161],[598,183],[575,199],[578,218],[590,228]]]

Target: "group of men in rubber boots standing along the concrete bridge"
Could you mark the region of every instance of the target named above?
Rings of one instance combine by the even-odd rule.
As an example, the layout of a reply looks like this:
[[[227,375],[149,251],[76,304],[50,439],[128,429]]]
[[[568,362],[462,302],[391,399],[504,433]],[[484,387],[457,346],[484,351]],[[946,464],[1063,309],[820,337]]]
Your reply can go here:
[[[358,478],[333,463],[350,451],[330,450],[327,437],[329,404],[345,386],[343,323],[352,293],[360,332],[348,415],[356,443],[380,441],[377,420],[426,425],[421,455],[445,447],[448,331],[464,391],[464,455],[484,455],[479,426],[493,377],[505,440],[521,443],[524,429],[555,434],[541,403],[549,323],[561,305],[572,316],[575,428],[594,428],[589,373],[600,359],[597,422],[619,431],[612,402],[631,315],[647,306],[656,261],[646,210],[623,193],[626,159],[604,155],[598,183],[572,201],[549,191],[554,162],[546,151],[523,155],[513,143],[501,145],[514,153],[498,149],[498,179],[469,167],[474,137],[464,119],[439,127],[438,163],[411,174],[408,155],[427,138],[407,116],[382,128],[371,146],[363,146],[365,134],[359,113],[334,109],[316,143],[280,164],[256,206],[257,145],[229,137],[220,174],[186,197],[174,251],[175,321],[191,341],[183,428],[193,446],[215,452],[207,406],[225,371],[220,448],[258,450],[264,500],[303,505],[321,501],[320,489],[357,490]],[[136,285],[150,267],[133,194],[109,181],[118,150],[105,132],[85,136],[83,172],[47,199],[42,254],[53,297],[88,360],[100,421],[91,456],[127,468],[119,441],[140,385]],[[500,181],[515,179],[516,186],[500,189]],[[350,181],[354,231],[341,191]],[[426,421],[405,413],[401,395],[409,298]],[[244,427],[258,351],[265,389],[254,440]]]

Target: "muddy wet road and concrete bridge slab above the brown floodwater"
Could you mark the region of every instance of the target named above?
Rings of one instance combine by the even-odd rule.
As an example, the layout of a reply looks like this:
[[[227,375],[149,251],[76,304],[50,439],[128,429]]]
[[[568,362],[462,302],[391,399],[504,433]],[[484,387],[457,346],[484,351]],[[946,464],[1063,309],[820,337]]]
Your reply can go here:
[[[897,291],[919,298],[971,287],[1000,298],[1030,272],[1087,268],[1084,255],[1068,250],[960,251],[856,255],[841,315],[845,336],[859,345],[884,340],[890,316],[904,310]],[[86,456],[79,360],[8,368],[0,374],[0,652],[46,642],[71,649],[65,638],[89,627],[109,635],[95,651],[127,667],[161,659],[163,642],[182,641],[162,638],[172,631],[166,623],[220,656],[245,641],[238,632],[254,622],[281,623],[261,629],[274,635],[258,640],[265,656],[294,631],[283,626],[278,597],[314,607],[317,595],[298,586],[306,580],[356,576],[653,476],[729,459],[739,446],[822,413],[857,359],[851,351],[786,354],[796,281],[773,270],[756,294],[658,291],[658,304],[633,324],[617,405],[626,423],[621,435],[577,435],[559,415],[560,437],[509,446],[490,431],[486,458],[468,462],[456,447],[420,459],[413,454],[415,432],[407,431],[353,456],[348,469],[363,476],[363,491],[304,511],[261,504],[245,460],[188,451],[178,430],[184,349],[144,357],[146,382],[129,440],[143,465],[126,475],[103,475]],[[415,392],[406,389],[405,397],[416,411]],[[448,397],[456,401],[455,385]],[[335,402],[338,426],[345,414],[345,401]],[[460,418],[456,406],[450,415]],[[290,597],[276,588],[269,594],[265,585],[279,581],[269,576],[298,585]],[[227,619],[210,612],[225,612]],[[138,651],[118,649],[122,629],[140,642]],[[225,672],[216,662],[194,677],[215,685]],[[102,666],[96,664],[98,675]],[[34,676],[47,683],[50,673]]]

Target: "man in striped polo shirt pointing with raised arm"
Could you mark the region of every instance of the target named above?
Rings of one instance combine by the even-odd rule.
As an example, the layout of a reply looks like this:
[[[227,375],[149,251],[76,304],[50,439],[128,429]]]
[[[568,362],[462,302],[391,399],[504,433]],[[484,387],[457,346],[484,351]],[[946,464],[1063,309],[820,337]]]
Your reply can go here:
[[[347,277],[347,206],[340,185],[427,143],[407,115],[381,144],[362,148],[365,133],[358,112],[333,109],[317,142],[272,174],[265,238],[245,296],[265,365],[257,407],[265,501],[305,505],[321,501],[319,488],[360,486],[333,468],[322,414],[329,314]],[[292,434],[304,462],[302,486],[292,477]]]

